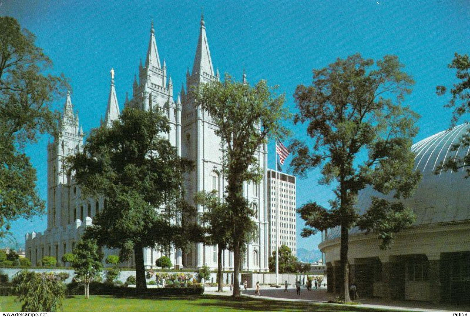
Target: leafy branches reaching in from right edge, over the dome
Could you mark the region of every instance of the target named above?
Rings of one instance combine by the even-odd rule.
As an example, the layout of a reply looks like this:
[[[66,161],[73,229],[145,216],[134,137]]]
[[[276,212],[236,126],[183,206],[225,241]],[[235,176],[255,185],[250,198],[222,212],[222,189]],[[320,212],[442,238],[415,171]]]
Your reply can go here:
[[[470,113],[470,59],[469,55],[461,55],[455,53],[452,63],[448,65],[450,69],[455,69],[458,82],[453,84],[453,87],[450,89],[450,94],[452,95],[449,103],[445,105],[446,108],[454,109],[451,126],[454,126],[457,121],[464,114]],[[438,95],[445,95],[447,88],[445,86],[436,87],[436,93]],[[461,143],[454,144],[452,146],[453,151],[457,151],[460,146],[470,146],[470,137],[464,135],[460,140]],[[470,154],[467,154],[464,157],[456,157],[455,155],[449,156],[440,164],[436,173],[444,170],[453,170],[456,172],[459,168],[464,167],[467,171],[466,178],[470,177]]]

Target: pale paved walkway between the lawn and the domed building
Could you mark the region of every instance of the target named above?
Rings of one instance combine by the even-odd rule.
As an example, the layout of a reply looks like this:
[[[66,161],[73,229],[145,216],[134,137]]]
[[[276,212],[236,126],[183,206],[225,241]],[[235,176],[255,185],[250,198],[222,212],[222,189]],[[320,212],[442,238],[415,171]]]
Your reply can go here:
[[[228,287],[224,287],[223,293],[217,293],[217,287],[206,287],[205,294],[219,295],[219,296],[231,296],[232,292]],[[248,289],[242,292],[245,296],[254,297],[254,289]],[[288,288],[287,292],[284,292],[284,288],[275,288],[269,286],[262,286],[260,290],[260,298],[275,300],[275,301],[308,301],[316,303],[328,304],[328,301],[335,299],[337,294],[327,293],[326,289],[312,289],[307,291],[306,288],[302,288],[300,295],[297,295],[295,288]],[[389,301],[381,298],[360,298],[359,306],[364,308],[376,308],[376,309],[392,309],[392,310],[412,310],[412,311],[469,311],[470,307],[454,306],[448,304],[433,304],[430,302],[423,301]],[[358,307],[358,305],[352,305]]]

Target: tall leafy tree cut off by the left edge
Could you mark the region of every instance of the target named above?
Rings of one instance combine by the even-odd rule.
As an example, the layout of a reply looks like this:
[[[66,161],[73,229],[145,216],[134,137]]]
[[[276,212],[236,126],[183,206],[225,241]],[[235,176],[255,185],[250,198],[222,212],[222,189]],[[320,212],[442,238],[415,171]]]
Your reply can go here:
[[[24,154],[38,134],[55,133],[52,101],[68,86],[63,75],[46,74],[51,60],[35,36],[16,19],[0,16],[0,238],[10,222],[45,211],[36,192],[36,170]]]

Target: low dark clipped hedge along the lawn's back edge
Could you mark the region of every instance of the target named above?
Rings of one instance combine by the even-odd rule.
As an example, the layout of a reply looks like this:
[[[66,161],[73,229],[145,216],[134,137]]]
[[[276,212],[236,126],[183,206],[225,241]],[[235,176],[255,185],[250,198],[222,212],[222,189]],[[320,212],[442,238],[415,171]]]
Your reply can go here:
[[[83,284],[72,282],[67,284],[67,295],[83,295]],[[188,287],[148,288],[145,291],[137,291],[134,287],[115,286],[94,282],[90,284],[90,295],[115,295],[115,296],[166,296],[166,295],[200,295],[204,293],[204,286],[195,284]]]

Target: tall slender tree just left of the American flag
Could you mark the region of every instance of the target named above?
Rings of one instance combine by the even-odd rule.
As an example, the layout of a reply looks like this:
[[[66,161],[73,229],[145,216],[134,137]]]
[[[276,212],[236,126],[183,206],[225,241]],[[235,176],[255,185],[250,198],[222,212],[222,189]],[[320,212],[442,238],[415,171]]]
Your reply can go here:
[[[193,92],[190,92],[193,94]],[[262,173],[255,158],[270,137],[283,137],[287,130],[281,121],[289,117],[283,108],[284,95],[276,96],[261,80],[254,87],[235,82],[226,74],[223,82],[202,84],[194,91],[196,107],[207,111],[216,125],[225,150],[226,202],[230,210],[234,252],[234,296],[240,296],[239,272],[245,238],[252,230],[255,211],[243,195],[244,182],[259,182]]]

